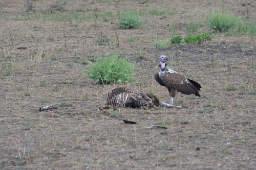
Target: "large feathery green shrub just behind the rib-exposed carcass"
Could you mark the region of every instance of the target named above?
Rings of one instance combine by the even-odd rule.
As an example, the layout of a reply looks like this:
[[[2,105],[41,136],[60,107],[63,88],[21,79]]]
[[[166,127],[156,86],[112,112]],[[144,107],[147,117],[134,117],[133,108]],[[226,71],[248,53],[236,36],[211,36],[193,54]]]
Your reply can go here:
[[[97,59],[93,64],[90,63],[88,77],[97,80],[99,83],[125,84],[134,80],[134,64],[125,60],[118,59],[119,52],[108,53],[102,60]]]

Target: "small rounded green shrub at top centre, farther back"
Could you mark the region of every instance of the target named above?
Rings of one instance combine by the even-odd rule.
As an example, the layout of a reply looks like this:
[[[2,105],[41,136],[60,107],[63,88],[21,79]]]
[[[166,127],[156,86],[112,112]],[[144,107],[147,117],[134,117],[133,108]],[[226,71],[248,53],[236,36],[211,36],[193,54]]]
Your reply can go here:
[[[136,13],[127,12],[120,15],[120,28],[134,28],[142,25],[142,20]]]

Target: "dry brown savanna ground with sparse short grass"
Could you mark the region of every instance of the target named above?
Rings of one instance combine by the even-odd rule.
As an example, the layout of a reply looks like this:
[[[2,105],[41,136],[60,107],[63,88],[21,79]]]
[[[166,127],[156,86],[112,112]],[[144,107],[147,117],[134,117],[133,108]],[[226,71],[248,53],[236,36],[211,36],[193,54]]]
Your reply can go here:
[[[255,23],[255,7],[250,0],[35,0],[28,12],[26,0],[0,0],[0,169],[255,169],[255,35],[208,27],[211,12]],[[127,11],[143,24],[118,28],[118,13]],[[202,32],[212,40],[170,44],[173,35]],[[117,50],[136,64],[135,81],[87,77],[88,61]],[[189,106],[182,109],[97,110],[116,87],[168,102],[153,77],[160,55],[201,84],[201,98],[179,94],[174,103]]]

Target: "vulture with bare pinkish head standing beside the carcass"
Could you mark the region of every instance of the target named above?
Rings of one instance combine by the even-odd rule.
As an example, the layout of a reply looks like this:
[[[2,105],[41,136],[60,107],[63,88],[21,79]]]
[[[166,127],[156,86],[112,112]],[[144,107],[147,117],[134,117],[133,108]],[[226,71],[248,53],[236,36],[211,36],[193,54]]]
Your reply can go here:
[[[187,79],[179,72],[169,69],[166,64],[166,61],[168,60],[166,56],[160,56],[159,60],[161,71],[159,74],[155,74],[154,78],[161,86],[167,87],[170,95],[170,107],[181,108],[180,106],[173,105],[173,98],[178,92],[187,95],[195,94],[200,97],[199,91],[202,87],[198,82]]]

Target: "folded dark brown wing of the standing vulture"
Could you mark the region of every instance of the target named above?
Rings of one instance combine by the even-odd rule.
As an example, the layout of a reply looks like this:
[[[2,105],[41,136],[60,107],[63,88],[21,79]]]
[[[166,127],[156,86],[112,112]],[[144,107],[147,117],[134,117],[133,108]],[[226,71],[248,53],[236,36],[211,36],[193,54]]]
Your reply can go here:
[[[162,79],[162,81],[164,82],[164,84],[166,84],[167,87],[174,88],[175,90],[183,94],[195,94],[197,96],[200,96],[198,91],[200,85],[197,83],[199,86],[197,85],[198,88],[195,87],[187,78],[185,78],[178,72],[162,74]]]

